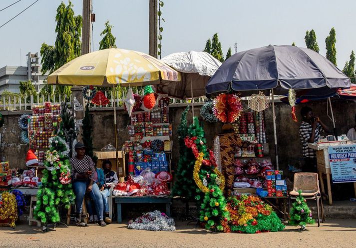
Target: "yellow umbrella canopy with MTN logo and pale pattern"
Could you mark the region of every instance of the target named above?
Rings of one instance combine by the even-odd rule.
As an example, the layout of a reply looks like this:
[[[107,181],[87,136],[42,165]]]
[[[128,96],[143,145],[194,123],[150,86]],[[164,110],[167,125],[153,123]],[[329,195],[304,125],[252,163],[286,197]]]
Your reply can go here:
[[[180,81],[180,73],[139,51],[108,48],[81,55],[51,73],[49,84],[143,86]]]

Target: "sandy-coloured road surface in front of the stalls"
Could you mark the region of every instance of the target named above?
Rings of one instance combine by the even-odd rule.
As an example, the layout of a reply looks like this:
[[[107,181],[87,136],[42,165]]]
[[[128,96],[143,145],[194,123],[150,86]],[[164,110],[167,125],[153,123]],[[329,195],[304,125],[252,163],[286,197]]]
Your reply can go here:
[[[280,232],[259,234],[211,233],[178,222],[175,232],[130,230],[113,223],[42,233],[23,223],[15,229],[0,227],[0,247],[356,247],[356,219],[330,219],[319,228],[311,225],[307,229],[299,232],[287,226]]]

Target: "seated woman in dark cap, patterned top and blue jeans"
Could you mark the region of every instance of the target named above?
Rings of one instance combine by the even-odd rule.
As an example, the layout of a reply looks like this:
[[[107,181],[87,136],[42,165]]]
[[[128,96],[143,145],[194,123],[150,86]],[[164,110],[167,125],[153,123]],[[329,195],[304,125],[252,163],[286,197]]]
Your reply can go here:
[[[77,210],[76,224],[79,226],[87,226],[81,218],[82,202],[85,192],[87,192],[94,200],[96,212],[99,214],[100,225],[105,226],[102,197],[98,185],[94,183],[96,180],[95,164],[90,156],[85,155],[85,146],[83,143],[76,143],[74,148],[77,154],[70,159],[70,164],[72,168],[71,177]]]

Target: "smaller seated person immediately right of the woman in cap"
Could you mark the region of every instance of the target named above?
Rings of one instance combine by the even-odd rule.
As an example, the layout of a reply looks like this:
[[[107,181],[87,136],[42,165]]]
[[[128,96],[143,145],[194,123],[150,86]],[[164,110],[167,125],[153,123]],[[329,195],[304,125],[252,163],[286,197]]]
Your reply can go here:
[[[104,216],[105,222],[111,223],[111,219],[109,217],[109,204],[107,198],[110,196],[110,184],[116,185],[119,182],[117,178],[117,174],[115,171],[111,170],[111,162],[110,160],[104,160],[102,162],[102,169],[104,171],[105,184],[101,187],[101,195],[104,203]]]

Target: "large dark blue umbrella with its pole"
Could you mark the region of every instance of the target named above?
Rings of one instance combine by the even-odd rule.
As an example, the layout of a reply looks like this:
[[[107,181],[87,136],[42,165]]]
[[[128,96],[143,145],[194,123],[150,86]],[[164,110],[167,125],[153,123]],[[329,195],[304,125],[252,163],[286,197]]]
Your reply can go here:
[[[273,96],[285,95],[289,89],[294,89],[306,96],[327,98],[338,88],[350,86],[350,78],[318,52],[293,45],[268,45],[229,57],[210,78],[205,92],[210,95],[233,90],[246,96],[251,95],[251,91],[271,90],[278,168]]]

